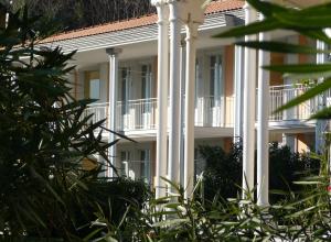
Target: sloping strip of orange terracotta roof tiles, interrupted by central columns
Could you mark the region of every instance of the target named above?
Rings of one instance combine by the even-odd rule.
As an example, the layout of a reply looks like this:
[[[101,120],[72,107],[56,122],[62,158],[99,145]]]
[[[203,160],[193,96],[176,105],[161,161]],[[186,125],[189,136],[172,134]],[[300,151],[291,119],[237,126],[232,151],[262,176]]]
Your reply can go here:
[[[213,14],[216,12],[229,11],[235,9],[241,9],[244,6],[244,1],[241,0],[220,0],[212,2],[207,6],[205,14]],[[56,41],[65,41],[77,37],[84,37],[89,35],[96,35],[102,33],[116,32],[127,29],[134,29],[138,26],[146,26],[154,24],[158,20],[157,14],[145,15],[137,19],[124,20],[118,22],[105,23],[96,26],[78,29],[75,31],[61,33],[51,37],[43,40],[41,43],[56,42]]]

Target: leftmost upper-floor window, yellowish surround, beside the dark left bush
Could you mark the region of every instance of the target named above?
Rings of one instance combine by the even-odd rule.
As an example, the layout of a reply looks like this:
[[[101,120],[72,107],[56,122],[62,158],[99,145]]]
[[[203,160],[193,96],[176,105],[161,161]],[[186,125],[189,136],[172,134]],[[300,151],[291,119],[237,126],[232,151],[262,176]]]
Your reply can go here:
[[[100,99],[100,79],[98,72],[85,73],[84,90],[85,98]]]

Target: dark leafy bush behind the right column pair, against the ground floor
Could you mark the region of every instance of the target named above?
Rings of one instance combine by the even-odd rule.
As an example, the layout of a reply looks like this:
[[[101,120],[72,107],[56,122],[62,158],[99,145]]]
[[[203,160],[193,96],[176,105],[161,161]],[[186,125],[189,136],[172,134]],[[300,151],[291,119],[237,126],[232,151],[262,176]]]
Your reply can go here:
[[[203,173],[204,196],[212,200],[216,194],[221,198],[235,198],[241,193],[243,175],[242,144],[236,143],[228,152],[221,146],[200,146],[202,158],[206,166]],[[269,187],[271,202],[282,198],[279,196],[289,191],[296,191],[298,187],[293,182],[305,176],[318,174],[319,162],[309,154],[292,153],[288,146],[279,147],[278,143],[269,145]]]

